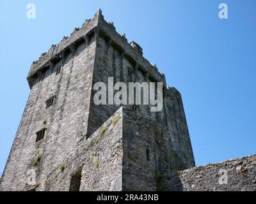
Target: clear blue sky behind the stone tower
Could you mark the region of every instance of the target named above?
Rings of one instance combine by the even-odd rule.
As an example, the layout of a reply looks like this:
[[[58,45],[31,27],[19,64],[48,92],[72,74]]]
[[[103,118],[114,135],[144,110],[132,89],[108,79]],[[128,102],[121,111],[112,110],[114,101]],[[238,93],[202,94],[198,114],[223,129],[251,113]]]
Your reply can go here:
[[[220,3],[228,19],[218,18]],[[256,1],[1,0],[0,172],[29,96],[31,62],[98,8],[181,92],[196,165],[256,153]]]

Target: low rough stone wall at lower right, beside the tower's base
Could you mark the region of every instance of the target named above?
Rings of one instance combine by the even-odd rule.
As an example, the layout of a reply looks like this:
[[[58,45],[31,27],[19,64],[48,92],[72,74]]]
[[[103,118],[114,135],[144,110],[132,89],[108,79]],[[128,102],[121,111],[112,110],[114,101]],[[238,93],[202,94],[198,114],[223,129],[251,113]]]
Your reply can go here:
[[[256,191],[256,155],[163,176],[166,191]]]

